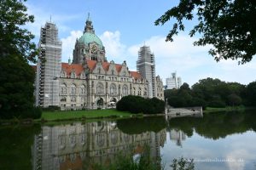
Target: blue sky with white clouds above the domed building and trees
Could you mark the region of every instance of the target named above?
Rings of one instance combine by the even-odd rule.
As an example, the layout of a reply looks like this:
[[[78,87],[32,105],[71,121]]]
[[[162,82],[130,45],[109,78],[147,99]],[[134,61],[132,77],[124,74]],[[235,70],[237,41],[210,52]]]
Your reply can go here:
[[[245,85],[256,81],[256,59],[245,65],[238,65],[238,61],[231,59],[216,62],[208,54],[211,46],[193,45],[200,35],[189,37],[188,32],[196,20],[185,21],[185,31],[174,37],[174,42],[166,42],[174,20],[164,26],[154,26],[154,21],[177,3],[177,0],[28,0],[27,13],[34,15],[35,22],[26,27],[35,35],[33,41],[38,43],[40,27],[46,21],[54,22],[62,42],[61,60],[67,62],[68,58],[73,59],[76,38],[83,35],[85,20],[90,13],[108,61],[122,63],[126,60],[130,71],[137,70],[138,50],[146,45],[154,53],[156,75],[160,75],[164,84],[175,71],[177,77],[190,86],[207,77]]]

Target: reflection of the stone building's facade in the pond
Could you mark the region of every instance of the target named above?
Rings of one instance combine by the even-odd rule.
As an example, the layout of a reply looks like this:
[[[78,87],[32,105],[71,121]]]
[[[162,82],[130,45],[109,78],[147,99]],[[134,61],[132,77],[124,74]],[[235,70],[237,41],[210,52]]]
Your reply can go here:
[[[151,156],[160,156],[160,146],[165,142],[166,129],[126,134],[115,122],[42,127],[32,147],[33,169],[81,169],[95,162],[108,164],[119,151],[141,153],[146,144]]]

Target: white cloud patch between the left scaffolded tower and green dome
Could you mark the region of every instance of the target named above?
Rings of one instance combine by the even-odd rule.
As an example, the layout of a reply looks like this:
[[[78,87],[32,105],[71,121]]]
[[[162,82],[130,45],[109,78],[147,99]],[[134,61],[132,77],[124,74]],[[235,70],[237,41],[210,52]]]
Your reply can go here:
[[[65,38],[61,38],[62,42],[62,61],[67,62],[70,57],[73,59],[73,49],[76,39],[83,35],[82,31],[71,31],[70,35]]]

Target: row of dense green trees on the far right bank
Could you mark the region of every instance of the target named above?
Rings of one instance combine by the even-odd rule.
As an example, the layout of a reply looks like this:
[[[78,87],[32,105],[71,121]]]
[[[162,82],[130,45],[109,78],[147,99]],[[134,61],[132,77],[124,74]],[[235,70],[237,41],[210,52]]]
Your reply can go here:
[[[173,107],[202,106],[226,107],[256,105],[256,82],[248,86],[238,82],[223,82],[219,79],[206,78],[196,82],[192,88],[187,83],[179,89],[165,91],[165,98]]]

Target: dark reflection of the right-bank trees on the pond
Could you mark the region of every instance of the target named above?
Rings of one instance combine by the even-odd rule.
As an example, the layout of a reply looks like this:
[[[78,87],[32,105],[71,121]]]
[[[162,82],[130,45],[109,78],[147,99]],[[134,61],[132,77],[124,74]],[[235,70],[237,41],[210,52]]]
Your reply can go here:
[[[205,114],[202,118],[179,117],[169,121],[171,128],[179,128],[188,136],[195,132],[209,139],[225,138],[232,133],[256,131],[256,114],[251,112],[220,112]]]

